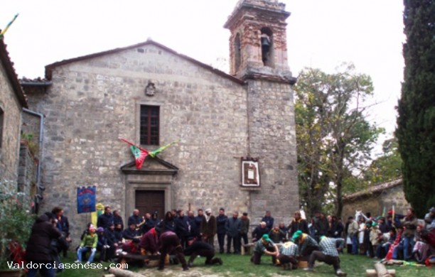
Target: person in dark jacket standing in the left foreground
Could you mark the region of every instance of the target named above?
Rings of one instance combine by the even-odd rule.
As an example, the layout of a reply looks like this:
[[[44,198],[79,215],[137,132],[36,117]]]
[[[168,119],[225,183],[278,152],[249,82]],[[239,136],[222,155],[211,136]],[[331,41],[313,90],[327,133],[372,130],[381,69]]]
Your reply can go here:
[[[47,266],[31,268],[28,270],[27,276],[36,276],[38,271],[41,276],[55,276],[54,259],[51,255],[51,240],[59,239],[61,235],[60,231],[53,226],[45,214],[36,219],[32,227],[31,237],[27,243],[26,261],[49,265],[49,268]]]

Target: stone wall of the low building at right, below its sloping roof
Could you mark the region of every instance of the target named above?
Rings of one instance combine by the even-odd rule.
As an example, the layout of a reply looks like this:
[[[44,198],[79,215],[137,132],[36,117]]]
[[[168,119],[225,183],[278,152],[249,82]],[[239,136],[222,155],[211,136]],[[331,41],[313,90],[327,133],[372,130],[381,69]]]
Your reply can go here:
[[[356,210],[371,212],[372,216],[382,214],[382,210],[388,211],[394,205],[395,211],[399,214],[406,214],[407,208],[411,207],[404,197],[403,185],[397,185],[372,195],[363,195],[353,200],[343,201],[343,218],[355,216]]]

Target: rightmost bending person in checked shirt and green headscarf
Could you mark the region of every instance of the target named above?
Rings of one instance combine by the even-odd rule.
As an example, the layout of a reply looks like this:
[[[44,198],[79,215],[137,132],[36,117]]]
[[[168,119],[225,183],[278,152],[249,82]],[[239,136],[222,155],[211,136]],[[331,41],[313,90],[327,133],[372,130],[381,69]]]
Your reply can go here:
[[[337,242],[339,243],[338,248]],[[304,268],[306,271],[313,271],[315,261],[324,261],[326,264],[332,264],[334,267],[336,276],[347,276],[346,273],[340,269],[340,258],[338,258],[338,251],[343,249],[344,239],[333,239],[325,236],[321,236],[319,246],[322,251],[313,251],[308,261],[308,268]]]

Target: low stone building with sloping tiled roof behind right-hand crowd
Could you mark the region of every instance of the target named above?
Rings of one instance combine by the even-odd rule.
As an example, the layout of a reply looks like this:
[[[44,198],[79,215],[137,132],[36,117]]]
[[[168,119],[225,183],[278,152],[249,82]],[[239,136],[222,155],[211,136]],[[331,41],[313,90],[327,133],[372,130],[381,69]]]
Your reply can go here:
[[[399,214],[406,214],[407,209],[411,207],[404,197],[402,179],[380,183],[367,190],[345,195],[343,217],[354,215],[356,210],[370,212],[372,216],[377,216],[382,214],[384,207],[388,211],[392,205]]]

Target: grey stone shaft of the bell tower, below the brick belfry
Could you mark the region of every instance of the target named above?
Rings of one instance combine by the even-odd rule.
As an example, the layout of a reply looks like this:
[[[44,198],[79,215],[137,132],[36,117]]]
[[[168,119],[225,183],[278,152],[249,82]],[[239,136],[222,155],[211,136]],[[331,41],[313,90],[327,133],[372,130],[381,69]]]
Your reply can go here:
[[[248,81],[249,146],[259,157],[262,187],[252,192],[252,220],[270,210],[275,222],[289,222],[299,210],[296,130],[291,86],[267,80]]]

